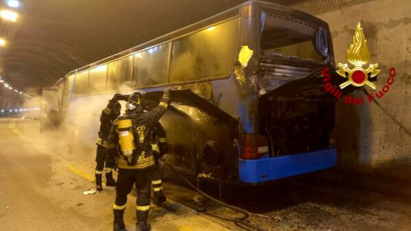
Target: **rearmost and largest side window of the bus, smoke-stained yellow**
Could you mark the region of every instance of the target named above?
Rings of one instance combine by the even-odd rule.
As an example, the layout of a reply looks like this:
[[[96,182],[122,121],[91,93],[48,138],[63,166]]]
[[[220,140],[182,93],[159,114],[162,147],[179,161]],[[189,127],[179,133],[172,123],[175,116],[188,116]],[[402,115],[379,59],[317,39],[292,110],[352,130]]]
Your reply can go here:
[[[170,82],[229,74],[236,61],[238,47],[238,18],[174,40]]]

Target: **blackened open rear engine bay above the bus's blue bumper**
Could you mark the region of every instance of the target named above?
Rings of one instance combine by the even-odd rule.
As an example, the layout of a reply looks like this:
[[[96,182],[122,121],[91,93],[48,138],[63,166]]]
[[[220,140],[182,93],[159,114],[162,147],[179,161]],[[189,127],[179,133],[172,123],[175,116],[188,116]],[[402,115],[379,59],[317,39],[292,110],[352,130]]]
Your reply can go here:
[[[260,133],[270,138],[271,156],[329,148],[338,98],[325,91],[321,71],[289,81],[260,97]],[[346,80],[331,68],[328,73],[336,87]],[[339,95],[353,90],[355,87],[346,87]]]

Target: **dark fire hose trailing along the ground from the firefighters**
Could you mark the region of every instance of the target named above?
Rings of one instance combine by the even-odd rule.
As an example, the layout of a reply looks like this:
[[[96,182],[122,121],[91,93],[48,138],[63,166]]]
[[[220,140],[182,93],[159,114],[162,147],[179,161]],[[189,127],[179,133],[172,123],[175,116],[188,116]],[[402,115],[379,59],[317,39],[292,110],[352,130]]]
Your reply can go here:
[[[219,219],[223,219],[225,221],[232,221],[236,224],[236,226],[238,226],[242,229],[245,229],[245,230],[249,230],[248,228],[252,228],[253,230],[265,231],[264,229],[262,229],[258,226],[255,226],[251,223],[247,223],[247,219],[250,217],[249,212],[247,210],[244,210],[242,208],[238,208],[236,206],[229,205],[225,202],[222,202],[221,200],[217,200],[216,198],[213,198],[211,195],[208,195],[204,191],[201,191],[201,189],[198,189],[197,187],[195,187],[195,185],[193,185],[190,182],[190,180],[188,180],[187,178],[182,176],[182,174],[177,172],[177,170],[175,170],[174,167],[170,163],[167,163],[167,161],[164,161],[164,159],[162,159],[162,158],[160,158],[160,160],[162,161],[162,163],[164,163],[164,165],[166,165],[166,167],[168,167],[171,170],[171,172],[174,172],[177,176],[179,176],[179,178],[182,178],[182,180],[184,180],[188,185],[190,185],[190,187],[192,187],[192,189],[195,189],[195,191],[199,192],[201,195],[203,195],[206,198],[212,200],[213,202],[216,202],[217,204],[221,204],[222,206],[225,206],[226,208],[234,210],[237,213],[241,213],[242,215],[244,215],[244,217],[242,217],[240,219],[229,219],[229,218],[225,218],[225,217],[220,217],[218,215],[214,215],[212,213],[208,213],[208,212],[206,212],[205,209],[199,209],[199,208],[196,208],[197,212],[204,213],[204,214],[209,215],[211,217],[216,217],[216,218],[219,218]],[[191,206],[189,206],[189,207],[191,207]],[[245,228],[243,226],[247,226],[248,228]]]

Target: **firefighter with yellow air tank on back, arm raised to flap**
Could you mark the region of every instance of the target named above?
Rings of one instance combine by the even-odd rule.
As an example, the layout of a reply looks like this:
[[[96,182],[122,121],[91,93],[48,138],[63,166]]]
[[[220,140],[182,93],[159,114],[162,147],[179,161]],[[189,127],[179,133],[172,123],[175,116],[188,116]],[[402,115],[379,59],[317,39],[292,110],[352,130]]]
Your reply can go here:
[[[151,131],[169,106],[170,90],[164,90],[160,104],[151,111],[144,111],[145,98],[138,92],[129,96],[125,114],[114,120],[108,143],[110,152],[119,154],[119,175],[116,200],[113,206],[114,230],[124,230],[124,210],[127,195],[136,185],[137,230],[151,230],[147,223],[150,208],[151,176],[155,161],[151,150]]]

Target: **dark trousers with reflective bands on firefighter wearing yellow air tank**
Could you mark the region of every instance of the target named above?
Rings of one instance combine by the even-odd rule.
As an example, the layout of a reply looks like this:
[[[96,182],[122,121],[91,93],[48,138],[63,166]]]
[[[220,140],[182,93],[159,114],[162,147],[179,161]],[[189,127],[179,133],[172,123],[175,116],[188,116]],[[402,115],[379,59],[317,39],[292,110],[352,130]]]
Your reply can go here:
[[[136,213],[137,225],[147,226],[147,217],[150,208],[151,176],[153,169],[119,169],[116,185],[116,201],[114,202],[114,215],[125,209],[127,195],[136,185],[137,200]]]

